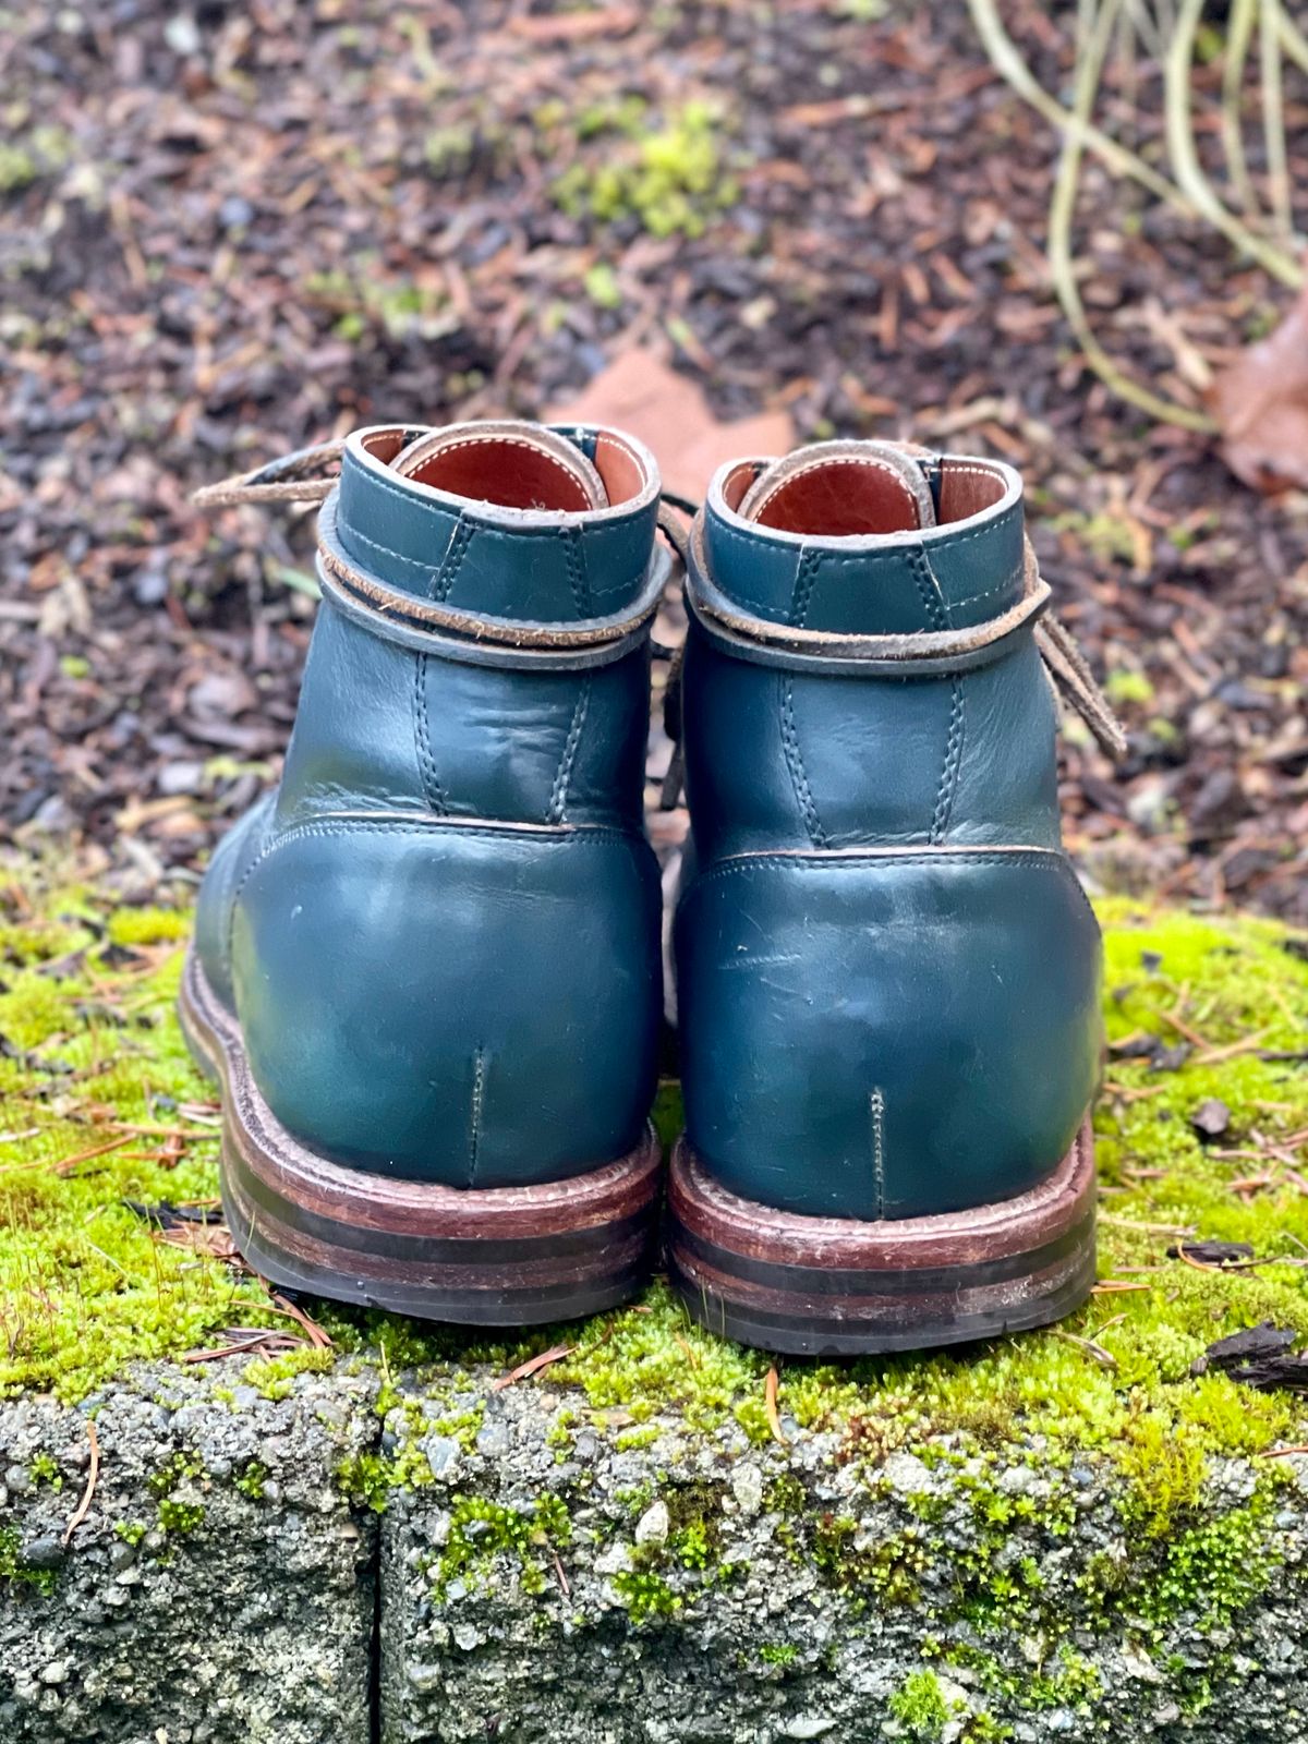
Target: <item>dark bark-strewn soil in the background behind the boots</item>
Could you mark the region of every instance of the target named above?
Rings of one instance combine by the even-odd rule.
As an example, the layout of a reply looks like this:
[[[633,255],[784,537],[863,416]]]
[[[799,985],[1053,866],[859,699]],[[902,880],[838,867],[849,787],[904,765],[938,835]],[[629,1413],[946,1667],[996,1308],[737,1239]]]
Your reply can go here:
[[[640,340],[724,417],[785,403],[804,436],[1018,462],[1132,729],[1118,774],[1069,745],[1073,846],[1100,879],[1308,919],[1308,504],[1085,370],[1043,255],[1052,131],[964,5],[879,10],[9,7],[0,832],[194,862],[276,773],[310,521],[211,521],[195,485],[356,424],[534,415]],[[1073,10],[1006,9],[1064,94]],[[1118,106],[1156,153],[1137,75]],[[623,127],[692,134],[694,99],[719,117],[703,234],[661,237],[682,208],[595,176]],[[1303,150],[1298,73],[1287,101]],[[1104,342],[1189,403],[1287,302],[1093,166],[1078,248]]]

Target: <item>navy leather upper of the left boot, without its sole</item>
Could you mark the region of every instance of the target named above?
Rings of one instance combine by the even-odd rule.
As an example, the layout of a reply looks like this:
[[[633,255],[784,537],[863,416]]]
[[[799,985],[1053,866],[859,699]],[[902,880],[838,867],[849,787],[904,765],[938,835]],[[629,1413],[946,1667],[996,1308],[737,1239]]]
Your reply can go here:
[[[657,474],[624,438],[562,433],[612,506],[553,508],[584,504],[574,469],[504,429],[476,453],[497,502],[445,488],[474,483],[462,445],[408,478],[427,431],[349,439],[283,783],[220,846],[197,919],[277,1118],[452,1186],[626,1155],[661,1013]]]

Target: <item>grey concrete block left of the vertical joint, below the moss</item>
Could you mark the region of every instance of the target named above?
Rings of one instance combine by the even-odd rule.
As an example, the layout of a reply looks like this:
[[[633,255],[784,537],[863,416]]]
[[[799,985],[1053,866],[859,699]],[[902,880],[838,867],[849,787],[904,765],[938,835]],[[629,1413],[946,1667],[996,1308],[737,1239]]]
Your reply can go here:
[[[0,1402],[5,1744],[370,1744],[377,1529],[337,1481],[366,1390],[153,1364]]]

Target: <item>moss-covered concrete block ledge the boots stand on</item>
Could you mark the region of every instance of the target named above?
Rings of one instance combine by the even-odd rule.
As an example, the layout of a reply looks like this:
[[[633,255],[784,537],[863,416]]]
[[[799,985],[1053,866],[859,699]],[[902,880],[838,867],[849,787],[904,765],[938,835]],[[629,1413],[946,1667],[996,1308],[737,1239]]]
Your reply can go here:
[[[382,1744],[1308,1737],[1308,1413],[1203,1367],[1308,1339],[1308,954],[1100,914],[1099,1292],[788,1362],[771,1411],[661,1284],[502,1343],[310,1305],[331,1350],[181,1366],[298,1336],[220,1230],[160,1228],[215,1191],[185,907],[0,872],[0,1735],[352,1739],[375,1693]]]

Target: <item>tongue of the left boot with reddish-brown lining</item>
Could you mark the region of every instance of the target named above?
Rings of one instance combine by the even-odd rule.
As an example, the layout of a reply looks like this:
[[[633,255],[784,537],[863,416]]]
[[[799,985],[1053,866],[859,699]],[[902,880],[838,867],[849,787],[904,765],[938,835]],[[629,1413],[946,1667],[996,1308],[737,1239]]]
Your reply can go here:
[[[609,504],[600,474],[567,436],[509,419],[420,436],[396,455],[392,471],[506,509],[577,514]]]

